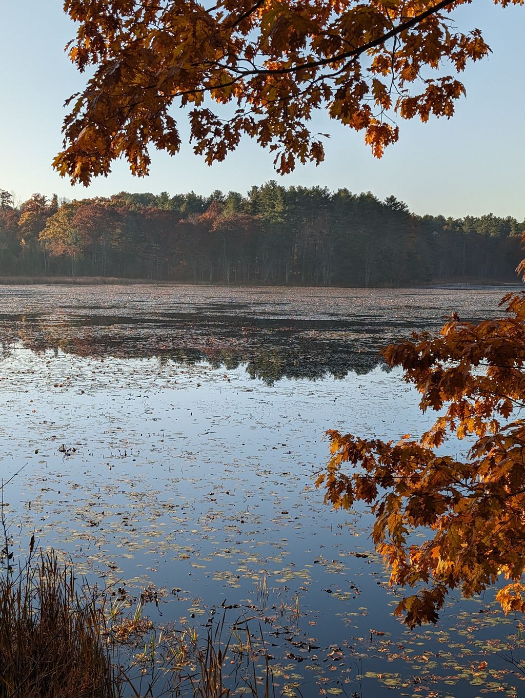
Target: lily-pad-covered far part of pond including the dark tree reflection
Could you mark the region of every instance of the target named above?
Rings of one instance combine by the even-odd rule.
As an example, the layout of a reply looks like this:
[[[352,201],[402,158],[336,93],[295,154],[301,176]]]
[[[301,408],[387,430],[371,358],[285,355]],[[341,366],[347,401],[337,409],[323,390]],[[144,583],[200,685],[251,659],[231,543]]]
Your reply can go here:
[[[508,289],[506,289],[508,290]],[[503,290],[13,286],[1,291],[4,352],[208,362],[273,385],[342,379],[383,366],[381,348],[436,330],[457,311],[479,321]]]

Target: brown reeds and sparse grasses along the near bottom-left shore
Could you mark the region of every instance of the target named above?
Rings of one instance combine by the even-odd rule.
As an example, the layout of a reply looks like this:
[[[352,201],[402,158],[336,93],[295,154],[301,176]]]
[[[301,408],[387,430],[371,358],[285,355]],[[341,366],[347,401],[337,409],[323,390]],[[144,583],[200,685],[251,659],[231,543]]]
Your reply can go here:
[[[270,698],[264,637],[248,621],[211,616],[193,625],[155,624],[145,602],[79,579],[53,549],[17,566],[3,549],[0,571],[0,698]]]

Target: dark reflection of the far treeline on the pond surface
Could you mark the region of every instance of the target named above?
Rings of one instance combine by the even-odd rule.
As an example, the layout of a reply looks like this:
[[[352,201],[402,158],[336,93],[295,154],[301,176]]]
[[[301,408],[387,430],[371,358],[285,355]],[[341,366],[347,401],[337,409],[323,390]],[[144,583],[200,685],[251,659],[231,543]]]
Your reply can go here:
[[[388,325],[356,320],[282,320],[172,315],[0,315],[4,355],[14,346],[36,354],[53,350],[81,357],[156,357],[165,364],[201,362],[225,370],[245,366],[248,376],[273,385],[282,378],[319,380],[364,375],[384,366],[382,346],[395,336]],[[397,328],[398,329],[398,328]],[[409,328],[406,328],[407,333]]]

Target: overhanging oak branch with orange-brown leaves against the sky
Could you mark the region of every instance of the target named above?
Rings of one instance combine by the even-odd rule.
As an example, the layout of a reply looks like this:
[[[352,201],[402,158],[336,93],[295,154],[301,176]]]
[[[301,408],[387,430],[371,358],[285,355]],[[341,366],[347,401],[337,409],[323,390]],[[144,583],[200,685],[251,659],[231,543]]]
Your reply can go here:
[[[123,156],[148,174],[149,146],[181,147],[174,105],[189,107],[208,164],[243,134],[275,152],[278,172],[321,162],[315,110],[363,131],[381,157],[398,117],[452,116],[465,93],[457,74],[489,53],[478,29],[453,24],[469,1],[66,0],[79,23],[69,57],[94,74],[68,101],[54,167],[87,185]]]

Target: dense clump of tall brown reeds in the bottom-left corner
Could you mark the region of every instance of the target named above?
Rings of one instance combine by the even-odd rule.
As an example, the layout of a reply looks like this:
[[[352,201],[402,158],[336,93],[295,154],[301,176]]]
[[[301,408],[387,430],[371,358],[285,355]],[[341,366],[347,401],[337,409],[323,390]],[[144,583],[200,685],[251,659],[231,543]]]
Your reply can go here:
[[[0,698],[118,698],[106,619],[54,552],[0,577]]]

